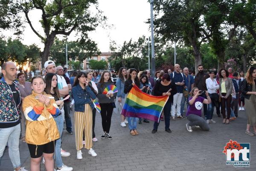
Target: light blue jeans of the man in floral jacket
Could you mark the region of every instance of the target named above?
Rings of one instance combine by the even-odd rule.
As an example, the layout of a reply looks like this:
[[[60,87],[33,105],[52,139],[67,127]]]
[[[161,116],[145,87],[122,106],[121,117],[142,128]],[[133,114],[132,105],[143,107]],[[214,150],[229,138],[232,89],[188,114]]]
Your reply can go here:
[[[0,128],[0,159],[8,142],[9,157],[13,168],[20,167],[20,124],[11,128]]]

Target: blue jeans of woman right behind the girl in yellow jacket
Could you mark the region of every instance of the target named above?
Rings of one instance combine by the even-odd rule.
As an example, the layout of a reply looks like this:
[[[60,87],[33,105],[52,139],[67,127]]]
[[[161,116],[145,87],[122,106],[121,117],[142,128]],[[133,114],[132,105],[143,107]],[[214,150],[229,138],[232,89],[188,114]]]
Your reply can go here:
[[[56,144],[55,144],[55,162],[56,166],[58,168],[61,168],[63,165],[62,159],[61,159],[61,134],[63,132],[63,124],[64,120],[61,115],[57,116],[54,118],[56,125],[58,127],[58,131],[60,133],[60,138],[57,139]]]

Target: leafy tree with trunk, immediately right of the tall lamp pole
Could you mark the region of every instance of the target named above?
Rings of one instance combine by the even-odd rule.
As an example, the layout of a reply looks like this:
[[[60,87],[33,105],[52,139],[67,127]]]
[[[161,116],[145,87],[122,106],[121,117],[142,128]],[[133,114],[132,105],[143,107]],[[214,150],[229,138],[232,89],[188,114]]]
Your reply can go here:
[[[205,0],[154,0],[156,35],[163,42],[179,41],[192,46],[196,66],[202,63],[200,47],[207,39],[204,20],[201,20],[205,3]]]

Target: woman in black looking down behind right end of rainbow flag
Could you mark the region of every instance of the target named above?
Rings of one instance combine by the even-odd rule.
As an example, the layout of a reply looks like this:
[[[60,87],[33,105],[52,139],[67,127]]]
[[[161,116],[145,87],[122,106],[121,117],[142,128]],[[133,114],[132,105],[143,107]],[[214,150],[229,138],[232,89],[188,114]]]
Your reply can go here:
[[[173,95],[177,93],[177,88],[175,82],[171,81],[169,74],[164,74],[162,80],[156,81],[156,84],[154,86],[154,96],[169,96],[168,101],[164,105],[163,108],[163,114],[164,114],[164,122],[165,122],[165,130],[168,133],[171,133],[170,130],[170,112],[171,107],[173,103]],[[160,122],[160,120],[159,120]],[[152,133],[157,132],[157,128],[159,125],[159,122],[154,122],[154,129],[152,130]]]

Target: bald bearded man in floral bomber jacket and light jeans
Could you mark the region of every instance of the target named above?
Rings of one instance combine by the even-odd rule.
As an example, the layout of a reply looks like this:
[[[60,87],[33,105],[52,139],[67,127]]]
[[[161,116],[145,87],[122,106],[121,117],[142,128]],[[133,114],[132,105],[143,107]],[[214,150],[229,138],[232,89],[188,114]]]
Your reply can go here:
[[[9,157],[15,171],[27,171],[20,167],[20,91],[14,82],[17,78],[17,67],[12,62],[2,65],[0,80],[0,159],[8,142]]]

